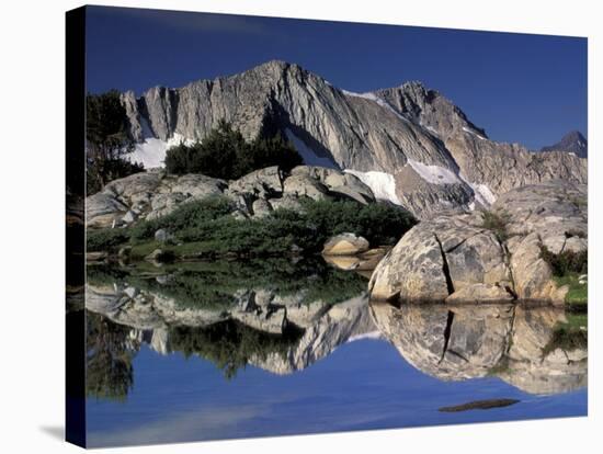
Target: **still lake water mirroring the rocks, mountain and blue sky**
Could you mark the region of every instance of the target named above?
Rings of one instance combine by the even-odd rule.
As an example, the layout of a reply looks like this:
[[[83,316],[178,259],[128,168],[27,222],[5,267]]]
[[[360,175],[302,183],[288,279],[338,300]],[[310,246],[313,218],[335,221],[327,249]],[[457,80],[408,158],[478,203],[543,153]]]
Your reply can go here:
[[[585,315],[366,284],[320,261],[89,266],[89,445],[587,415],[585,342],[557,332]]]

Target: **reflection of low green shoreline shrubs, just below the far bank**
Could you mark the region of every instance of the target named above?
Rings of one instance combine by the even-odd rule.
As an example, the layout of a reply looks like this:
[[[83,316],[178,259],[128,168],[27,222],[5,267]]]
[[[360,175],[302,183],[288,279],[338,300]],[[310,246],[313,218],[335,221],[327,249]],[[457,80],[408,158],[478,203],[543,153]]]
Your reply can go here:
[[[164,279],[157,280],[157,276]],[[93,285],[125,283],[173,298],[181,308],[221,310],[237,302],[242,288],[263,288],[280,296],[303,294],[302,303],[337,304],[366,290],[356,273],[338,270],[322,260],[285,259],[174,263],[157,269],[148,263],[129,266],[88,266]]]

